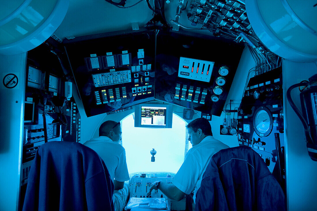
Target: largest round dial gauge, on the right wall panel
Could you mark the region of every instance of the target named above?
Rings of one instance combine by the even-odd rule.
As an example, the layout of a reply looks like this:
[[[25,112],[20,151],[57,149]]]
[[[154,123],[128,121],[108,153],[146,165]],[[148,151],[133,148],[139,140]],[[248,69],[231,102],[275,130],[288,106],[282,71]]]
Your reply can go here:
[[[260,137],[268,136],[273,128],[272,113],[268,108],[261,106],[254,112],[253,128]]]

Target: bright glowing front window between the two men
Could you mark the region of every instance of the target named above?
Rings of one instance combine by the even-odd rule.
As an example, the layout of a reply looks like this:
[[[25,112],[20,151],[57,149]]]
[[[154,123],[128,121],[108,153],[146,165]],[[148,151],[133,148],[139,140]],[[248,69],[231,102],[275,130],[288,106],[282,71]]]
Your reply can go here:
[[[134,127],[134,113],[122,120],[122,146],[126,150],[129,173],[166,171],[176,173],[191,148],[186,122],[173,114],[172,128]],[[152,149],[157,151],[151,162]]]

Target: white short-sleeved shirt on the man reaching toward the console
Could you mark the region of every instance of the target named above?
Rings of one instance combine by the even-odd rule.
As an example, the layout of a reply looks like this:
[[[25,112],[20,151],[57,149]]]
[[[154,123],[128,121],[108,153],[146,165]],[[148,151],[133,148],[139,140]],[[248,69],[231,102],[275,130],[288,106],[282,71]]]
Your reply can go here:
[[[212,136],[205,137],[199,144],[193,146],[185,155],[185,160],[172,179],[172,183],[185,194],[194,190],[193,200],[196,200],[197,190],[211,157],[219,150],[229,148],[226,144]]]

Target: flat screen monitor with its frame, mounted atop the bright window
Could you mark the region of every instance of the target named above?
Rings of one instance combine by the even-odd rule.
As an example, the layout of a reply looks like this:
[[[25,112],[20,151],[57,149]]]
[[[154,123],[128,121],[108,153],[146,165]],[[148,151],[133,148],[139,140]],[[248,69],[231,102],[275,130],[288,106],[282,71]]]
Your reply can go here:
[[[173,105],[135,105],[134,127],[172,128]]]

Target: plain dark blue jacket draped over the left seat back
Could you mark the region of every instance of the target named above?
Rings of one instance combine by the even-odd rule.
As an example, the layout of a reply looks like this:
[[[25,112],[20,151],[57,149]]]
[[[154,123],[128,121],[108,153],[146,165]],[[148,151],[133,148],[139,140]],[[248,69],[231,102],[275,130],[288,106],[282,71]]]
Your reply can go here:
[[[98,154],[80,144],[53,141],[36,152],[23,211],[113,210],[114,185]]]

